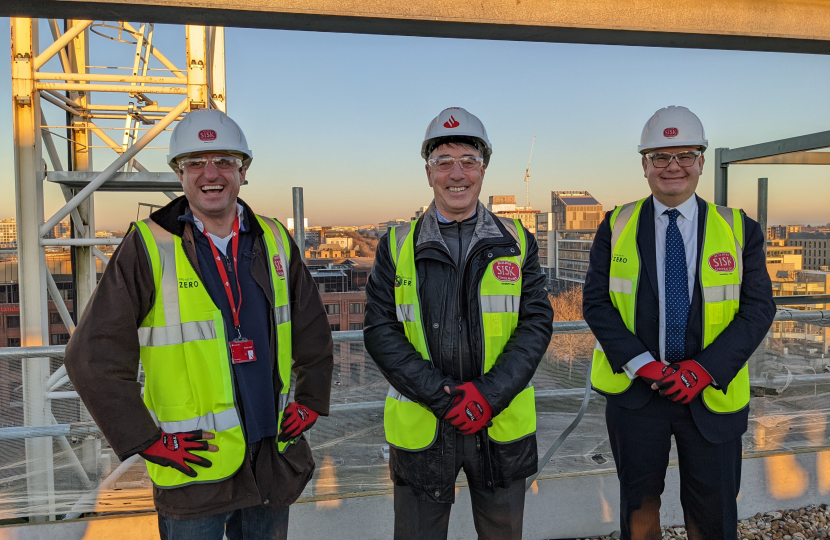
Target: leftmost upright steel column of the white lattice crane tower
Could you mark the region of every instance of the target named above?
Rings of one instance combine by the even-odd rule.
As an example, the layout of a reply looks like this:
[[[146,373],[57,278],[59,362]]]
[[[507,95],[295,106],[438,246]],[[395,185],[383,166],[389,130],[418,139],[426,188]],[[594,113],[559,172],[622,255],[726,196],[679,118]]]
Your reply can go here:
[[[34,86],[37,21],[11,19],[12,110],[14,127],[18,274],[20,276],[20,337],[23,347],[43,346],[48,339],[46,260],[40,246],[43,223],[43,171],[40,145],[40,96]],[[48,358],[30,358],[23,365],[23,419],[26,426],[48,426],[46,399]],[[26,439],[26,488],[29,506],[54,516],[55,479],[52,438]]]

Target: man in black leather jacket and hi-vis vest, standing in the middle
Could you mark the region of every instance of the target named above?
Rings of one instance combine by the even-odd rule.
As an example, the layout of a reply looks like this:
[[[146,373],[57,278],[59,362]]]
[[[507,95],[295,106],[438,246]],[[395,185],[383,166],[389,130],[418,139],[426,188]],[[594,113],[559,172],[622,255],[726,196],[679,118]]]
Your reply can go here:
[[[522,537],[538,460],[530,380],[553,310],[533,235],[478,201],[491,153],[464,109],[430,123],[421,157],[434,200],[381,239],[366,285],[366,349],[390,384],[396,540],[447,538],[461,469],[478,538]]]

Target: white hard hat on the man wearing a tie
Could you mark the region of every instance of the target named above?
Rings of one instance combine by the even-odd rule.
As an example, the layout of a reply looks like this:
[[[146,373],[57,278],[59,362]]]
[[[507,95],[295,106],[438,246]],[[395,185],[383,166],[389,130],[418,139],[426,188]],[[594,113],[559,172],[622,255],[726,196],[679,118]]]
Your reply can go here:
[[[706,150],[709,141],[700,118],[686,107],[671,105],[649,118],[640,136],[640,153],[671,146],[700,146]]]

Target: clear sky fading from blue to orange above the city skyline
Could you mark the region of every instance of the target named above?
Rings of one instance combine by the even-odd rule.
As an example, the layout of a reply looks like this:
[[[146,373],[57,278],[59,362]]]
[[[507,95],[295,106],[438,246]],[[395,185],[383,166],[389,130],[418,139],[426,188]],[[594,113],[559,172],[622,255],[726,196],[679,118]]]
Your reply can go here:
[[[8,19],[0,24],[8,28]],[[134,46],[94,39],[92,64],[131,64]],[[51,42],[45,24],[41,41]],[[184,66],[184,27],[158,25],[155,43]],[[285,220],[291,187],[302,186],[311,225],[409,218],[428,204],[420,144],[429,121],[450,106],[479,116],[493,143],[485,203],[495,194],[524,202],[522,179],[537,137],[530,202],[542,211],[550,211],[551,190],[586,189],[606,209],[645,196],[637,144],[645,121],[666,105],[694,111],[711,149],[830,129],[828,56],[249,29],[227,30],[226,55],[228,112],[254,152],[242,197]],[[51,69],[58,69],[54,62]],[[0,217],[10,217],[8,52],[0,74],[0,156],[8,164]],[[44,111],[53,125],[62,123],[62,112]],[[118,132],[111,136],[120,141]],[[166,144],[166,136],[158,141]],[[142,162],[168,170],[165,152],[146,152]],[[96,151],[96,170],[114,156]],[[708,157],[698,194],[711,199],[714,153]],[[759,176],[770,178],[770,223],[830,221],[830,167],[732,167],[730,205],[752,217]],[[46,192],[49,214],[61,197],[55,186]],[[98,195],[98,228],[125,228],[138,201],[166,197]]]

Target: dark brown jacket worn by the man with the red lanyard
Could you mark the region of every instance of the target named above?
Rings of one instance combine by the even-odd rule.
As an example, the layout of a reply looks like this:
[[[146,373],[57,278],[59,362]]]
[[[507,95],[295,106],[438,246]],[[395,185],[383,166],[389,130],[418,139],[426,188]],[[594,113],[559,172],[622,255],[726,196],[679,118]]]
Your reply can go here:
[[[250,215],[250,208],[241,200],[240,203]],[[179,197],[150,217],[164,229],[182,237],[184,251],[202,277],[193,227],[178,220],[186,210],[187,200]],[[257,238],[251,273],[273,306],[263,231],[255,219],[249,224],[251,233]],[[290,260],[292,356],[297,375],[294,400],[327,416],[333,368],[331,330],[317,287],[293,240]],[[122,460],[149,447],[160,433],[144,406],[141,386],[137,382],[137,329],[149,313],[154,296],[147,255],[137,231],[132,230],[110,259],[66,347],[69,378]],[[274,392],[279,392],[281,383],[277,370],[273,369],[276,364],[274,328],[272,315],[271,367]],[[257,504],[288,506],[300,496],[311,478],[314,460],[304,438],[289,446],[283,454],[277,451],[275,439],[269,438],[263,440],[255,469],[256,475],[250,456],[246,455],[239,471],[222,482],[173,489],[154,487],[156,508],[167,517],[198,519]]]

